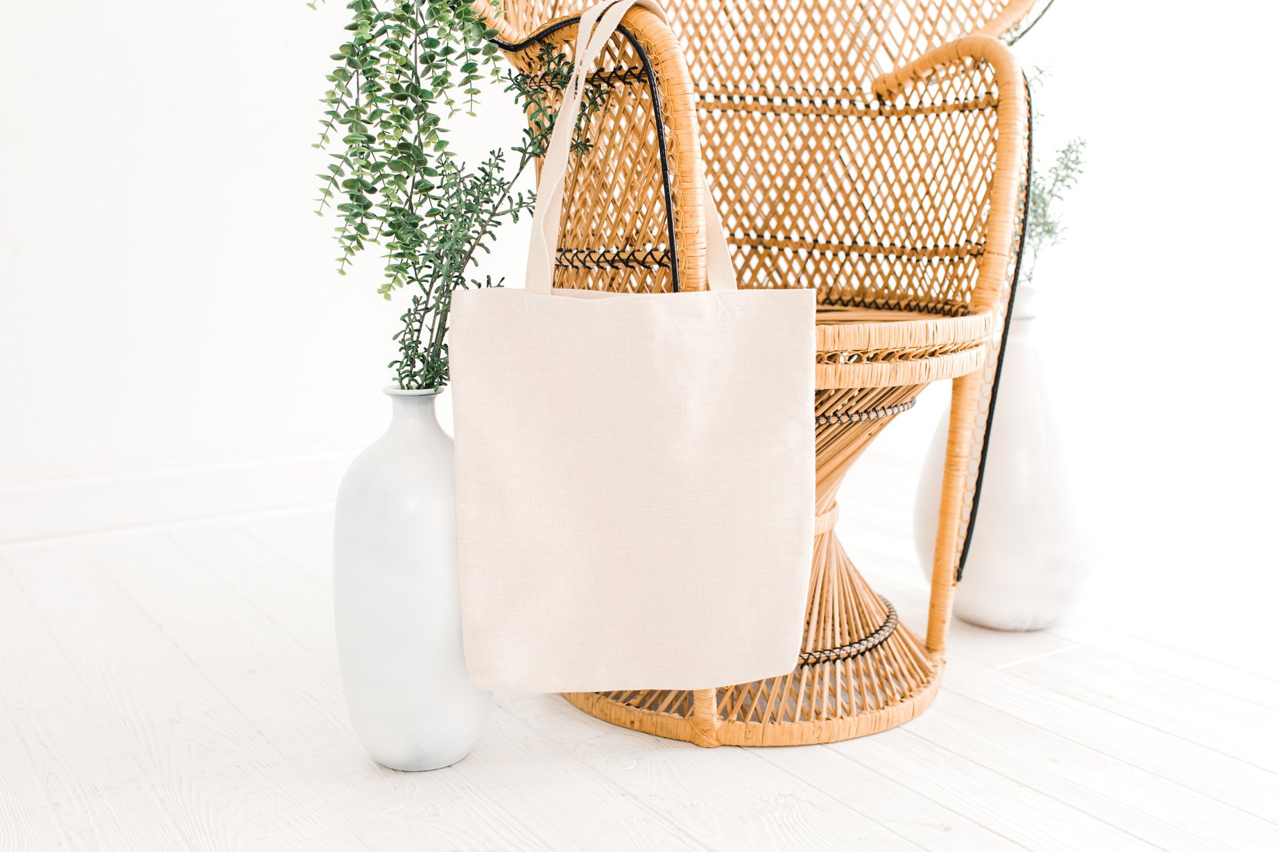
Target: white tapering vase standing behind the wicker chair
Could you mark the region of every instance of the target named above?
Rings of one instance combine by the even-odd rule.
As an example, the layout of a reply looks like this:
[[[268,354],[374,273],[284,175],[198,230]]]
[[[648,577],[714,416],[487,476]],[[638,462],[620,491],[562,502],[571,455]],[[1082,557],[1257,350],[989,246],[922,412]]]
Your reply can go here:
[[[1033,290],[1016,295],[976,526],[955,614],[997,630],[1040,630],[1075,604],[1088,553],[1034,337]],[[932,575],[950,411],[919,479],[914,536]]]

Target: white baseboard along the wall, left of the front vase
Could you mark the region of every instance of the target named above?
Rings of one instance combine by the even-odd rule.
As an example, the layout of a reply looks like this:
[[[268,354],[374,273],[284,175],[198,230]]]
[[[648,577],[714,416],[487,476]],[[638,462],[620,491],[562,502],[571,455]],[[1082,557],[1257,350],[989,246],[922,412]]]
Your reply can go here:
[[[56,474],[0,484],[0,544],[331,503],[358,448]]]

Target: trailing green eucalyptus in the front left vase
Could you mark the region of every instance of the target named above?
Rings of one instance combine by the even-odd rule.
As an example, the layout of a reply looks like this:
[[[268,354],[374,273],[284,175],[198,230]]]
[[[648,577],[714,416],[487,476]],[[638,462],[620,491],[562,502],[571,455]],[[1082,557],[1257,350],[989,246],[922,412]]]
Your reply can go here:
[[[551,100],[571,79],[562,51],[541,51],[535,75],[504,72],[497,32],[469,0],[351,0],[345,41],[331,59],[317,148],[330,151],[318,178],[318,209],[336,212],[337,273],[377,245],[383,261],[378,293],[387,300],[409,290],[394,335],[399,356],[390,363],[405,390],[437,388],[449,381],[447,327],[459,289],[498,286],[473,271],[491,252],[496,229],[518,221],[535,203],[515,192],[541,157],[555,125]],[[486,79],[505,91],[528,116],[523,139],[493,148],[474,165],[458,158],[445,121],[474,116]],[[589,148],[580,128],[606,91],[588,88],[573,149]]]

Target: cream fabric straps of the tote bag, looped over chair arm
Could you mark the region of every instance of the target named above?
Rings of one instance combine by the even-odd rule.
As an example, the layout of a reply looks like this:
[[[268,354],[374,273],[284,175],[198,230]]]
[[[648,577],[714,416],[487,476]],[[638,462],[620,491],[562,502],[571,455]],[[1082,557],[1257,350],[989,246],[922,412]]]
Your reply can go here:
[[[573,134],[585,96],[585,83],[590,72],[594,70],[594,64],[599,54],[603,52],[604,45],[608,43],[612,33],[620,26],[621,17],[635,5],[665,18],[665,14],[652,0],[604,0],[581,13],[578,24],[573,78],[564,89],[564,101],[558,116],[555,119],[555,130],[546,148],[546,158],[542,161],[542,179],[533,215],[533,234],[528,247],[528,278],[524,285],[528,293],[550,294],[551,291],[555,258],[558,254],[564,180],[567,175]],[[704,174],[702,175],[702,203],[705,211],[707,282],[713,291],[736,290],[736,273],[727,253],[723,224],[714,208],[714,199],[711,198]]]

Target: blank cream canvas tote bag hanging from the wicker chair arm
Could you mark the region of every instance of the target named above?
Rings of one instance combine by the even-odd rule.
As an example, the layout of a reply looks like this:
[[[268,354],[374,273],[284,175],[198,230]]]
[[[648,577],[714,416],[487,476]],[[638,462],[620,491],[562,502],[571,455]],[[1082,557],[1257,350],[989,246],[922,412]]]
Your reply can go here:
[[[708,291],[551,289],[585,77],[631,5],[581,17],[527,289],[454,295],[463,632],[483,688],[707,688],[799,654],[814,291],[737,291],[708,194]]]

